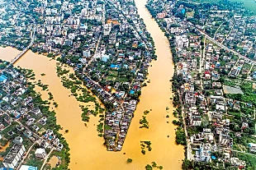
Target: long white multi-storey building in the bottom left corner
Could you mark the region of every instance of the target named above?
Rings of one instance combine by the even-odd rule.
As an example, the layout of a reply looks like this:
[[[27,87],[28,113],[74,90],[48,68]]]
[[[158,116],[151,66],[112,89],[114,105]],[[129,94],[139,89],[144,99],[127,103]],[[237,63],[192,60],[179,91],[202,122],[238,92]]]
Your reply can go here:
[[[16,168],[18,162],[20,161],[22,155],[25,153],[26,149],[24,145],[16,144],[12,146],[12,149],[4,158],[2,164],[5,168]]]

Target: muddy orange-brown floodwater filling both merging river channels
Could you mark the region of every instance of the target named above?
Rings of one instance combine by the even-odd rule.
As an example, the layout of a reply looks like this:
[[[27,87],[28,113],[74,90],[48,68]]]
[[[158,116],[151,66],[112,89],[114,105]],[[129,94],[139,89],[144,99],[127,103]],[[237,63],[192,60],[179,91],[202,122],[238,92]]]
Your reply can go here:
[[[59,104],[55,108],[57,122],[69,133],[64,137],[69,143],[71,170],[107,169],[107,170],[141,170],[147,164],[155,162],[168,170],[181,169],[184,159],[183,146],[175,144],[175,131],[173,126],[173,105],[170,100],[173,97],[171,84],[173,76],[172,54],[169,50],[167,39],[159,29],[156,22],[151,19],[145,9],[146,0],[135,0],[147,28],[154,39],[158,60],[152,62],[149,67],[150,83],[143,88],[140,103],[132,119],[126,141],[121,152],[108,152],[103,145],[103,138],[97,136],[97,124],[99,117],[90,116],[88,126],[84,126],[81,120],[81,109],[77,100],[65,89],[61,80],[56,75],[56,62],[36,53],[28,51],[15,64],[16,66],[33,69],[36,80],[41,80],[44,85],[49,85],[49,91],[53,94],[55,102]],[[14,48],[0,48],[0,58],[10,61],[19,53]],[[45,76],[40,76],[45,73]],[[36,88],[39,92],[40,89]],[[70,97],[69,97],[70,96]],[[43,94],[43,99],[48,95]],[[166,108],[169,108],[166,110]],[[140,128],[140,119],[145,110],[150,110],[146,116],[149,129]],[[169,115],[170,117],[166,117]],[[146,150],[141,154],[140,141],[151,141],[152,151]],[[133,159],[132,163],[126,160]]]

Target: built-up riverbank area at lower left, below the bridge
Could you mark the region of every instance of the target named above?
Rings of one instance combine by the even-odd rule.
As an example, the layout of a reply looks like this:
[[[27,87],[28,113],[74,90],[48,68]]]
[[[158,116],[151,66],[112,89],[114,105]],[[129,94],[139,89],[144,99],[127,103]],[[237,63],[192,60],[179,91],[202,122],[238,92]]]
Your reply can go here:
[[[7,62],[1,64],[7,65]],[[33,143],[39,147],[34,154],[40,159],[45,158],[45,149],[63,149],[54,131],[45,130],[49,128],[49,115],[41,113],[40,104],[26,93],[26,77],[12,67],[2,70],[0,77],[1,138],[12,140],[12,149],[3,155],[2,164],[6,168],[17,168]]]

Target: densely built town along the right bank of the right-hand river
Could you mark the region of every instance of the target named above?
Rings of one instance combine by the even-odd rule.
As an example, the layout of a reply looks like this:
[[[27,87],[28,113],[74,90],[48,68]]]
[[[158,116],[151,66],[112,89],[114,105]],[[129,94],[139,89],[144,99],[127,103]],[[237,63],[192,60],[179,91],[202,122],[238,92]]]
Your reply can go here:
[[[211,30],[212,37],[224,45],[235,44],[243,48],[241,44],[246,41],[249,50],[245,53],[255,53],[254,33],[251,36],[245,34],[255,30],[255,17],[241,15],[231,19],[227,15],[232,11],[220,11],[218,7],[210,6],[210,16],[200,17],[205,25],[200,25],[199,30],[191,20],[198,9],[190,3],[154,1],[147,7],[153,15],[167,12],[164,17],[155,16],[173,42],[170,45],[177,66],[176,74],[181,77],[179,83],[183,84],[178,87],[178,95],[186,124],[187,159],[216,163],[216,166],[221,162],[237,168],[254,168],[252,159],[245,159],[255,153],[256,70],[251,59],[254,56],[239,57],[208,39],[206,33]],[[223,24],[214,30],[212,25],[216,24],[216,18],[221,18]],[[222,25],[227,21],[230,27],[224,33]],[[248,27],[242,23],[247,23]],[[239,34],[234,34],[234,31]]]

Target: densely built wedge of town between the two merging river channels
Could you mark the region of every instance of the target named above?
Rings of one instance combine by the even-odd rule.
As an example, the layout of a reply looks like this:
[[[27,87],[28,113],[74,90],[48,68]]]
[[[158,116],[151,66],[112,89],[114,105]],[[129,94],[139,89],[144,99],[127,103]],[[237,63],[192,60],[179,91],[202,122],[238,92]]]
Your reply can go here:
[[[2,7],[2,11],[26,5],[24,11],[29,17],[23,22],[35,24],[27,29],[22,22],[19,28],[26,33],[36,30],[32,51],[49,57],[60,54],[59,60],[73,67],[102,99],[107,106],[104,130],[107,149],[121,150],[139,101],[141,83],[146,79],[149,62],[155,59],[154,42],[140,20],[134,1],[23,3],[5,2],[7,6]],[[2,12],[2,16],[7,16],[6,12]],[[2,22],[9,19],[3,17]],[[17,17],[14,19],[19,21]],[[5,31],[1,32],[2,39],[8,37]],[[10,45],[10,41],[4,42]],[[12,45],[22,44],[17,42],[14,39]],[[21,116],[21,112],[15,112],[16,118]],[[26,119],[26,126],[40,131],[34,117],[26,116]],[[41,117],[40,122],[47,121]]]

